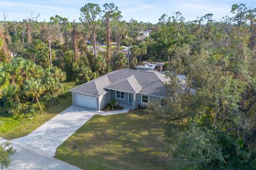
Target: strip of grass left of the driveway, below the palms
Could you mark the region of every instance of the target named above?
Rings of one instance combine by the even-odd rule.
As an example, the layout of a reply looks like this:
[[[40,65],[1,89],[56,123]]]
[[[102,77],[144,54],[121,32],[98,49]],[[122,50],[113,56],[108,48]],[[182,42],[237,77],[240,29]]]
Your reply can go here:
[[[72,97],[67,92],[67,89],[74,86],[74,82],[65,83],[65,93],[59,96],[60,102],[49,107],[43,114],[35,114],[34,117],[29,117],[28,115],[0,116],[0,137],[9,140],[24,137],[51,120],[52,117],[58,115],[72,104]]]

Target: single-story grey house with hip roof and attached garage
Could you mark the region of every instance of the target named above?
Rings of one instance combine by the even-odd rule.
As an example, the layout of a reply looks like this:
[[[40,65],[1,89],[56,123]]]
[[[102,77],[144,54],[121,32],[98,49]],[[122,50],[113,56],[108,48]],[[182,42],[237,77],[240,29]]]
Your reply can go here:
[[[135,109],[138,105],[146,107],[149,102],[161,103],[166,95],[165,81],[168,79],[161,72],[123,69],[69,91],[72,92],[73,105],[100,110],[115,99],[119,105]]]

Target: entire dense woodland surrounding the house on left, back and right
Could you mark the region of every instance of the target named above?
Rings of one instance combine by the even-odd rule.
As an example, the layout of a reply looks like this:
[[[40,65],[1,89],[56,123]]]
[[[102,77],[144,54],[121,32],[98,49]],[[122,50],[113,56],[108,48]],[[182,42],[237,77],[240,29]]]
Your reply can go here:
[[[38,22],[33,12],[9,22],[4,14],[1,113],[42,111],[41,101],[61,94],[63,81],[84,83],[143,60],[163,61],[167,102],[148,111],[165,124],[172,168],[255,169],[256,10],[234,4],[230,12],[221,21],[209,13],[186,22],[177,11],[156,24],[124,21],[113,3],[85,4],[80,22],[59,15]],[[151,31],[145,43],[137,39],[142,30]],[[180,89],[180,74],[195,95]]]

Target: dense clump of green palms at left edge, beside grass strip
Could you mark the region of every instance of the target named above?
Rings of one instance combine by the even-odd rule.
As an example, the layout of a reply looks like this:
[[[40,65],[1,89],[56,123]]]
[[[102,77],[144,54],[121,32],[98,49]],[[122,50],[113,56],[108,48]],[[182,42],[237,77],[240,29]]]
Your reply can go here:
[[[58,67],[44,69],[29,60],[14,58],[0,66],[0,114],[31,113],[39,105],[43,111],[46,101],[62,94],[65,80],[66,74]]]

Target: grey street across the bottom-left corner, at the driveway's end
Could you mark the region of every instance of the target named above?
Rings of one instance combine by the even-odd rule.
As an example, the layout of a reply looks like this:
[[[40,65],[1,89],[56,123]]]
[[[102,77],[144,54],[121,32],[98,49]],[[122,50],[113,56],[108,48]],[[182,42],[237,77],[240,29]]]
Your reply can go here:
[[[0,138],[0,143],[7,140]],[[11,165],[7,168],[9,170],[79,170],[78,167],[69,165],[61,160],[47,156],[41,152],[35,151],[28,147],[19,145],[14,141],[8,141],[12,143],[14,149],[17,149],[15,154],[12,155]]]

